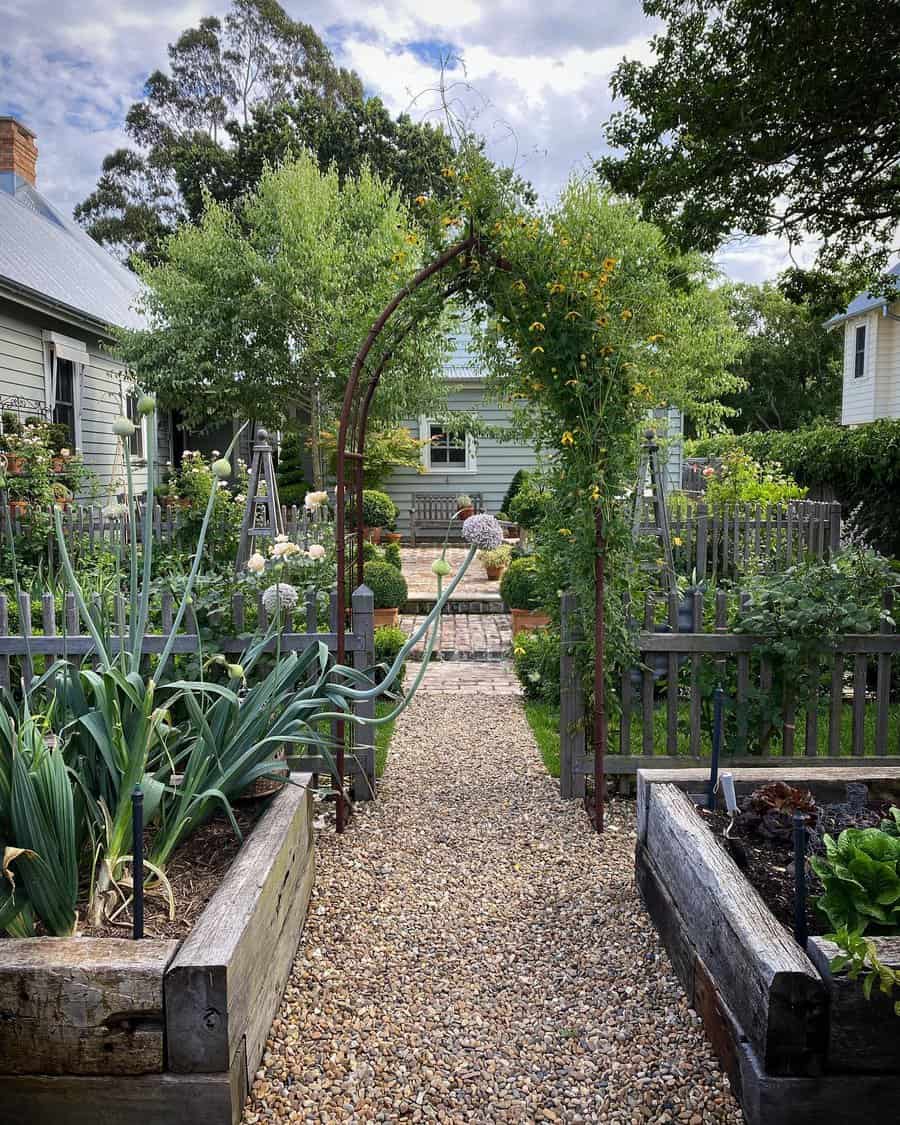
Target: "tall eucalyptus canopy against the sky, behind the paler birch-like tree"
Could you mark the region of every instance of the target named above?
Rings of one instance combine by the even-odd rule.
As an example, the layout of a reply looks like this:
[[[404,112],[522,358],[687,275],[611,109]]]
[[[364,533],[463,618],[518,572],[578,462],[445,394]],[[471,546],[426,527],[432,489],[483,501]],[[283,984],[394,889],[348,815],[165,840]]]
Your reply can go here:
[[[232,0],[224,19],[183,32],[125,127],[133,146],[104,160],[75,217],[126,259],[159,260],[180,223],[199,220],[207,194],[236,200],[267,162],[312,151],[341,177],[368,162],[411,199],[440,189],[451,151],[439,127],[393,118],[366,98],[359,76],[276,0]]]

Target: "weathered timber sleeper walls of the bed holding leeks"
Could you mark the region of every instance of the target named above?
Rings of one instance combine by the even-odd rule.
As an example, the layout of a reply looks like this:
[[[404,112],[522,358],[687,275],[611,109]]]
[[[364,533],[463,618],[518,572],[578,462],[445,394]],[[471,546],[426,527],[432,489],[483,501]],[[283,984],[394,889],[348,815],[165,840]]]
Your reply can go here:
[[[0,1123],[240,1122],[315,876],[291,781],[183,940],[0,942]]]

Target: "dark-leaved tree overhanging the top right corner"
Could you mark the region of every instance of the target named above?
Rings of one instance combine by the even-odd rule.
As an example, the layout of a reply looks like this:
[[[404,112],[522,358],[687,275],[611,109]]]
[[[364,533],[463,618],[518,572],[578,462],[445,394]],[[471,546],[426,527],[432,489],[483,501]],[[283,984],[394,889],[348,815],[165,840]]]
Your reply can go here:
[[[900,223],[900,0],[644,0],[598,168],[682,246],[732,232],[824,241],[882,267]]]

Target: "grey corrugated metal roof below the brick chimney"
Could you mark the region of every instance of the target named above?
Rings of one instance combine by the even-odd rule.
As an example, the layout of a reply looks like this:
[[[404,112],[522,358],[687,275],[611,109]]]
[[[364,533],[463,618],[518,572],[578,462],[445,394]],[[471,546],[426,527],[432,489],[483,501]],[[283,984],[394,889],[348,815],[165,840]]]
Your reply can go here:
[[[30,184],[0,191],[0,281],[94,321],[143,327],[137,277]]]

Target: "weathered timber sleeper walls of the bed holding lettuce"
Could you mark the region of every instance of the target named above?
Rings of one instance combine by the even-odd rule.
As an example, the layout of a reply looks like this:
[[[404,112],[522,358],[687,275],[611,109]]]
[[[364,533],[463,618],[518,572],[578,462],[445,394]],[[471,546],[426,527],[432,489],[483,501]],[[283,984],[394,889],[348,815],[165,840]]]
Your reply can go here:
[[[864,782],[900,800],[900,767],[762,767],[734,771],[738,793],[770,781],[843,800]],[[840,1125],[896,1116],[900,1019],[886,998],[832,975],[821,936],[807,951],[768,909],[684,792],[705,771],[638,773],[636,879],[673,966],[729,1076],[748,1125]],[[878,939],[886,964],[900,939]]]

